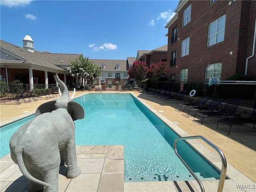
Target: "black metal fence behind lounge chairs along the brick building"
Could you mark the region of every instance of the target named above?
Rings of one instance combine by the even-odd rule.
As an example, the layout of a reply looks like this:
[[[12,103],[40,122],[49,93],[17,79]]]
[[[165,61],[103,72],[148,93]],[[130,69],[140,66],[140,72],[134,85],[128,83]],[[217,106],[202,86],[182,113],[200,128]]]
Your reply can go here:
[[[210,96],[212,98],[224,98],[225,101],[232,98],[242,99],[242,106],[256,106],[256,81],[218,81],[209,86],[209,82],[156,82],[153,84],[157,89],[183,88],[187,95],[196,90],[195,97]]]

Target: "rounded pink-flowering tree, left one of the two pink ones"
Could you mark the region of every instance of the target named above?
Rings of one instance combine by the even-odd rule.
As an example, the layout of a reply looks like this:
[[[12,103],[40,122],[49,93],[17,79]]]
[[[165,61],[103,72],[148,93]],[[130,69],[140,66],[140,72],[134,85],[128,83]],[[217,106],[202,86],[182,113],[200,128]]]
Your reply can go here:
[[[146,78],[148,73],[148,66],[143,61],[134,61],[132,66],[128,69],[130,78],[134,78],[137,83]]]

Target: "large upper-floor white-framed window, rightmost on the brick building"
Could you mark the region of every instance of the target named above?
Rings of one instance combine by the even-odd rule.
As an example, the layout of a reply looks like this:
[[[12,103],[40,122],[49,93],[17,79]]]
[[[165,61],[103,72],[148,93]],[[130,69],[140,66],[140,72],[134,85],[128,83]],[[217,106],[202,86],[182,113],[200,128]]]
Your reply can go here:
[[[208,46],[224,41],[226,14],[209,24]]]

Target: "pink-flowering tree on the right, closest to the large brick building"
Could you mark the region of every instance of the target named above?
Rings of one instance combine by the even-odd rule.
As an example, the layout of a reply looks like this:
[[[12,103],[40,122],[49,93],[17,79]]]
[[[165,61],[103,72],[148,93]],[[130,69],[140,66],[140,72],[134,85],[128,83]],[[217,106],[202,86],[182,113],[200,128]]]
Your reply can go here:
[[[148,69],[149,77],[166,77],[167,62],[152,63]]]

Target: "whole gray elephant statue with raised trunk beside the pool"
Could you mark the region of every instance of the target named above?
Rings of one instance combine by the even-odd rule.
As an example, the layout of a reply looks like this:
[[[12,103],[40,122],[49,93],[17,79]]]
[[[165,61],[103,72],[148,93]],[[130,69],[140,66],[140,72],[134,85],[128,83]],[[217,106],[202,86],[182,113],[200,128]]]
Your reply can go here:
[[[57,75],[60,98],[40,105],[35,118],[23,124],[10,139],[12,160],[28,179],[30,192],[58,192],[60,165],[67,165],[67,178],[81,171],[76,159],[75,124],[84,108],[72,101],[68,88]]]

